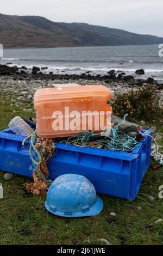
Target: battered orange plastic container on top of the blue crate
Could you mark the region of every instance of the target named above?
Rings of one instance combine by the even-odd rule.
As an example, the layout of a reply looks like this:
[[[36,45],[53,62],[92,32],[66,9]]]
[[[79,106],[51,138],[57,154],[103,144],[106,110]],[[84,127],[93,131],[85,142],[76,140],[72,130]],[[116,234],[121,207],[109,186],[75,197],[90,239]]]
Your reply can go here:
[[[108,126],[112,94],[105,86],[38,89],[34,95],[37,136],[68,137],[81,131],[103,131]]]

